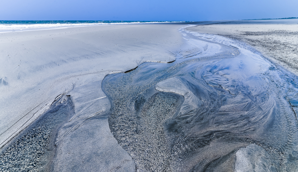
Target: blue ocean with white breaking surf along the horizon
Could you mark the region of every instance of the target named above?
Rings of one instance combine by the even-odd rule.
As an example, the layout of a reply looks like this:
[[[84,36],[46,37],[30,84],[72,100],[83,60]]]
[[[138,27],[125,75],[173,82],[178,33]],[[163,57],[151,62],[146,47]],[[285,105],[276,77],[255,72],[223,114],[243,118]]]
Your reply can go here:
[[[54,29],[78,26],[96,26],[111,24],[137,24],[137,23],[173,23],[181,21],[106,21],[106,20],[0,20],[0,32],[26,31],[37,29]]]

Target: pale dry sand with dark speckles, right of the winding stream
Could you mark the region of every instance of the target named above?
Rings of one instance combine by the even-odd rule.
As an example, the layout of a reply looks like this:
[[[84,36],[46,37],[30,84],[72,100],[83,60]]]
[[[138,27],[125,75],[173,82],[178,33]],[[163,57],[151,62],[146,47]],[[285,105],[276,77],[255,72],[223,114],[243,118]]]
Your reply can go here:
[[[298,19],[201,22],[186,30],[240,40],[298,74]]]

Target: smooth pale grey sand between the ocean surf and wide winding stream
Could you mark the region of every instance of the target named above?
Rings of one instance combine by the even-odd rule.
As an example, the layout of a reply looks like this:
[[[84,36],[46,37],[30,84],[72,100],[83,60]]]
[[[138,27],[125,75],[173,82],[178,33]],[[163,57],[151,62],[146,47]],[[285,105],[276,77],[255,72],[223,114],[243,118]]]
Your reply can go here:
[[[130,24],[1,33],[1,151],[51,110],[57,96],[63,102],[70,95],[75,113],[57,135],[55,169],[133,171],[133,160],[110,132],[110,103],[101,81],[144,61],[175,60],[171,51],[185,47],[177,31],[182,26]],[[90,156],[92,160],[84,160]]]

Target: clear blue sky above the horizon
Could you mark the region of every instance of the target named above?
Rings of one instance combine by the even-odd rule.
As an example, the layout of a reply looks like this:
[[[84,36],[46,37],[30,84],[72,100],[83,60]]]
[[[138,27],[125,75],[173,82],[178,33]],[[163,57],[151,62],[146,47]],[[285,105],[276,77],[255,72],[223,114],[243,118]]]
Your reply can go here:
[[[298,17],[297,0],[0,0],[0,20],[204,21]]]

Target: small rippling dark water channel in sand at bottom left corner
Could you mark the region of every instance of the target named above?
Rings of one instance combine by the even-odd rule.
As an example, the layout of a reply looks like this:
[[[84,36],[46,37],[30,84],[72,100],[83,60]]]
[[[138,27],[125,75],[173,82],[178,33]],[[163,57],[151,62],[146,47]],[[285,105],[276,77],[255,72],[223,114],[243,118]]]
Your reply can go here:
[[[0,154],[0,171],[53,171],[57,131],[74,113],[70,97],[62,97]]]

